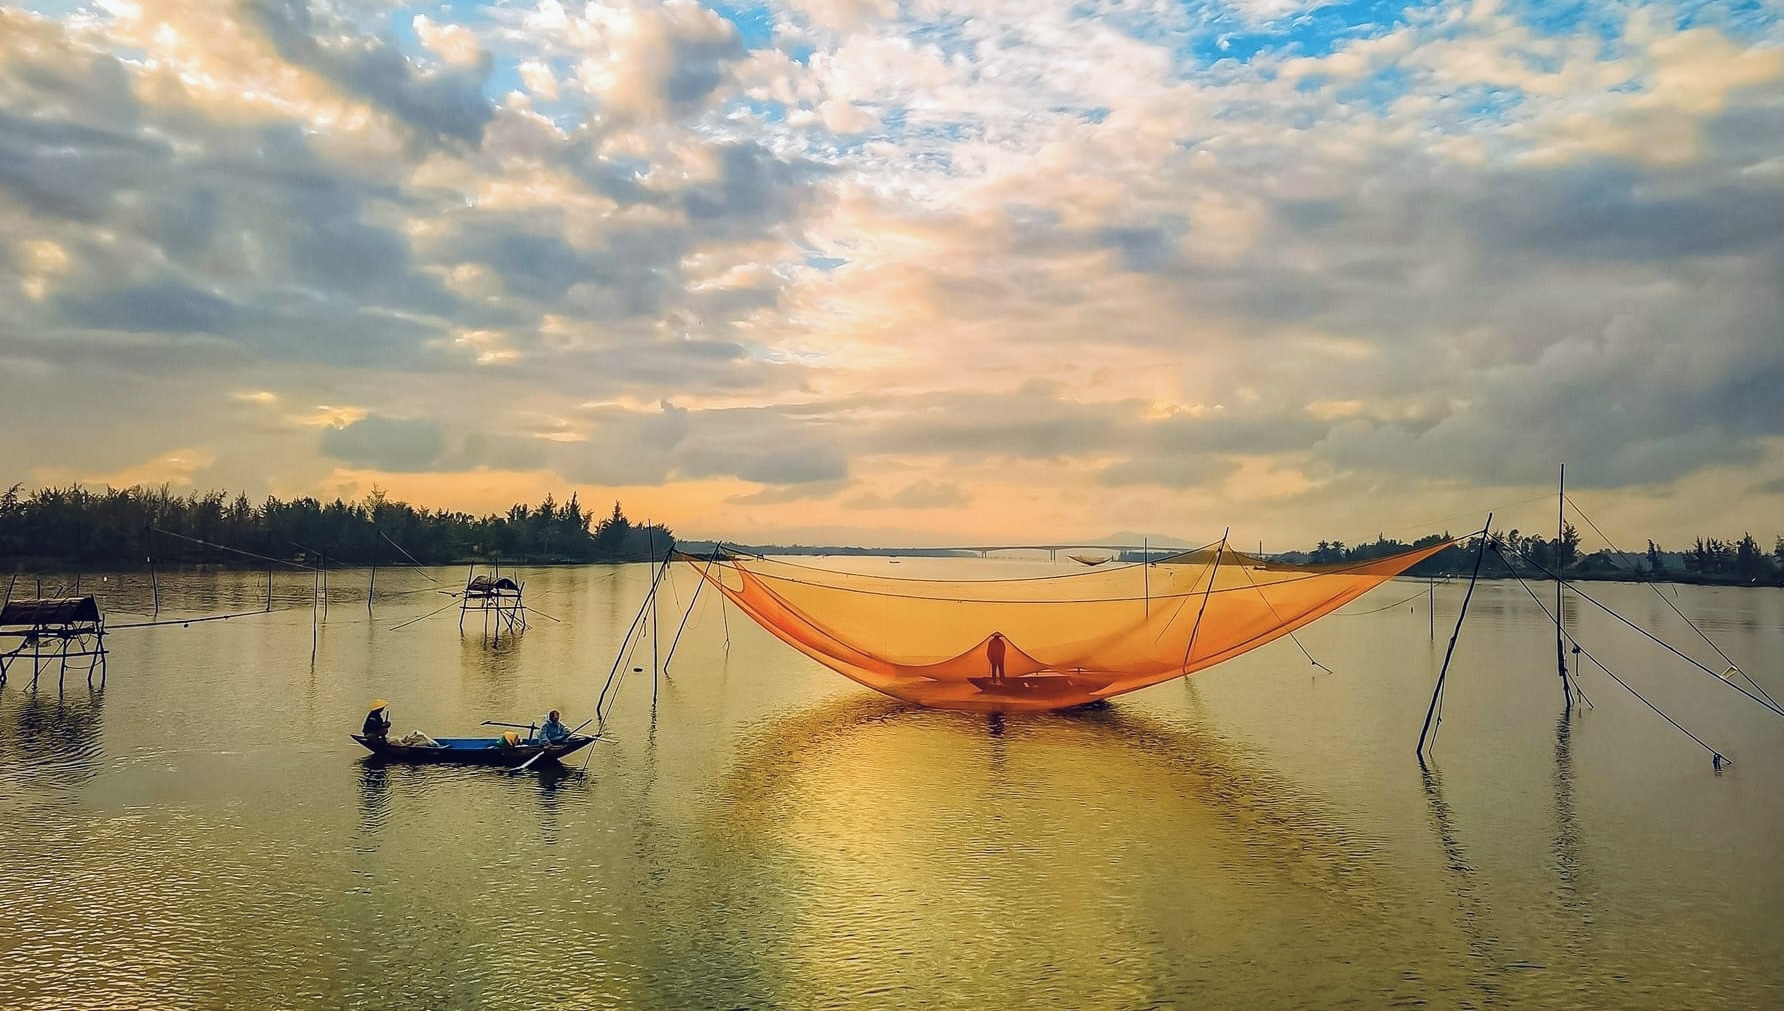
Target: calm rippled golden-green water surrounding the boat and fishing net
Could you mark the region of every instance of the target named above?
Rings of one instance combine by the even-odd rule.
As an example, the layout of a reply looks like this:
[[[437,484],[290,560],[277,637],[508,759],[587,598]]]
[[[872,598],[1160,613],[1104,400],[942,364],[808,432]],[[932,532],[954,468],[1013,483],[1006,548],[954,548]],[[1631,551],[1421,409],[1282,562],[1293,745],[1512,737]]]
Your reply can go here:
[[[1047,569],[890,572],[926,567]],[[1334,674],[1283,640],[1003,720],[901,708],[703,596],[655,711],[632,660],[587,774],[364,761],[375,695],[396,733],[592,715],[648,571],[521,576],[558,621],[500,644],[455,613],[392,631],[448,597],[380,571],[368,617],[346,572],[312,665],[293,574],[275,606],[301,610],[118,631],[103,692],[14,669],[0,1007],[1784,1006],[1784,720],[1588,604],[1584,645],[1732,769],[1595,670],[1559,720],[1552,626],[1483,583],[1422,774],[1461,587],[1433,642],[1400,581],[1301,633]],[[219,613],[266,576],[161,588],[162,617]],[[148,610],[145,576],[98,592],[114,624]],[[1713,658],[1650,588],[1591,592]],[[1784,692],[1784,592],[1675,599]]]

